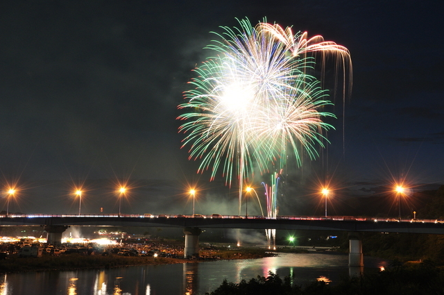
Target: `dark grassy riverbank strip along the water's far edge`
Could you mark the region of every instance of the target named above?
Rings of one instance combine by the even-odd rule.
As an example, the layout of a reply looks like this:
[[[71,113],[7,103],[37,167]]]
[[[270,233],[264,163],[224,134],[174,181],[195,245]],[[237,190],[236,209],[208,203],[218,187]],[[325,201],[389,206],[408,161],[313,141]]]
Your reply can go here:
[[[211,255],[210,255],[211,254]],[[257,259],[275,254],[261,248],[237,248],[233,250],[213,250],[205,252],[201,258],[165,258],[153,256],[122,256],[122,255],[82,255],[79,253],[63,254],[58,256],[43,255],[40,258],[20,258],[9,255],[0,260],[0,273],[14,273],[22,271],[49,271],[49,270],[77,270],[77,269],[110,269],[114,267],[130,267],[135,265],[157,265],[196,263],[214,260]]]

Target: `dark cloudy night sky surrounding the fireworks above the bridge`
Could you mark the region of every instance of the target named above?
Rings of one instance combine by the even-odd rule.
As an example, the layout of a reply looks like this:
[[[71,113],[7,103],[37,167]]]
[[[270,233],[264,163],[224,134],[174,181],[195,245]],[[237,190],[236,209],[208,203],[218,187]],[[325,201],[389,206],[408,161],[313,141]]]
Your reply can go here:
[[[244,17],[323,35],[352,57],[345,116],[341,94],[331,92],[338,117],[330,122],[331,144],[318,160],[288,168],[283,213],[300,214],[325,179],[341,188],[338,197],[373,196],[400,179],[412,191],[438,187],[444,184],[438,3],[1,1],[0,172],[4,189],[17,186],[10,211],[76,213],[73,187],[83,184],[82,212],[117,213],[115,189],[123,180],[132,188],[125,213],[189,214],[187,187],[197,185],[196,212],[235,214],[237,188],[223,186],[221,172],[212,183],[196,174],[198,163],[180,149],[176,117],[191,69],[210,55],[203,50],[214,39],[210,31],[239,26],[236,18]],[[259,195],[263,180],[255,179]]]

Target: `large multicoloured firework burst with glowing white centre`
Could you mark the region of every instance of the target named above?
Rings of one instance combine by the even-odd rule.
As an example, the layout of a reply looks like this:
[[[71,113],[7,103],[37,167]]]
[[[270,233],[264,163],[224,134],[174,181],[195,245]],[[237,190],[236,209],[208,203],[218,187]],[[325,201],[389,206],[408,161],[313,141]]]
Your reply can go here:
[[[185,120],[179,131],[185,134],[189,158],[200,160],[198,172],[212,169],[211,179],[222,169],[227,184],[239,180],[239,210],[242,184],[253,174],[279,161],[285,164],[287,151],[300,165],[302,151],[316,158],[316,146],[323,146],[323,131],[332,128],[322,121],[334,117],[323,112],[331,104],[314,76],[311,52],[348,51],[334,42],[307,34],[291,33],[277,24],[248,19],[240,28],[221,27],[218,40],[207,46],[214,56],[194,69],[196,78],[185,92],[185,109],[178,119]]]

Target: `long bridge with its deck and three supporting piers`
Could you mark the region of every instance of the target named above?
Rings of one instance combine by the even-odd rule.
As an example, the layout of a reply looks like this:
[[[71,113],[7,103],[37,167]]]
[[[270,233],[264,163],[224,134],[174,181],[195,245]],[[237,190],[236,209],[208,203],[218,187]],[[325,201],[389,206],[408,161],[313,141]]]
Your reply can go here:
[[[48,242],[60,244],[69,226],[135,226],[184,228],[185,257],[198,254],[200,228],[347,231],[350,239],[349,264],[363,267],[361,232],[423,233],[444,235],[444,221],[436,219],[381,219],[368,217],[300,217],[182,214],[8,214],[0,215],[0,226],[43,226]]]

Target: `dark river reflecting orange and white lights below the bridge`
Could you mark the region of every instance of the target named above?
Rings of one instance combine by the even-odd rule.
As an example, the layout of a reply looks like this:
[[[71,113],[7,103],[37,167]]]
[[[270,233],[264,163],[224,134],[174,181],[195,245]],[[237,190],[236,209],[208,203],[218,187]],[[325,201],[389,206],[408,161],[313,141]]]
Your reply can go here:
[[[387,262],[364,257],[365,272]],[[298,285],[318,278],[337,282],[348,276],[348,255],[342,253],[280,253],[254,260],[146,265],[116,269],[37,271],[0,276],[0,295],[198,295],[210,292],[226,278],[249,280],[268,271],[293,276]]]

